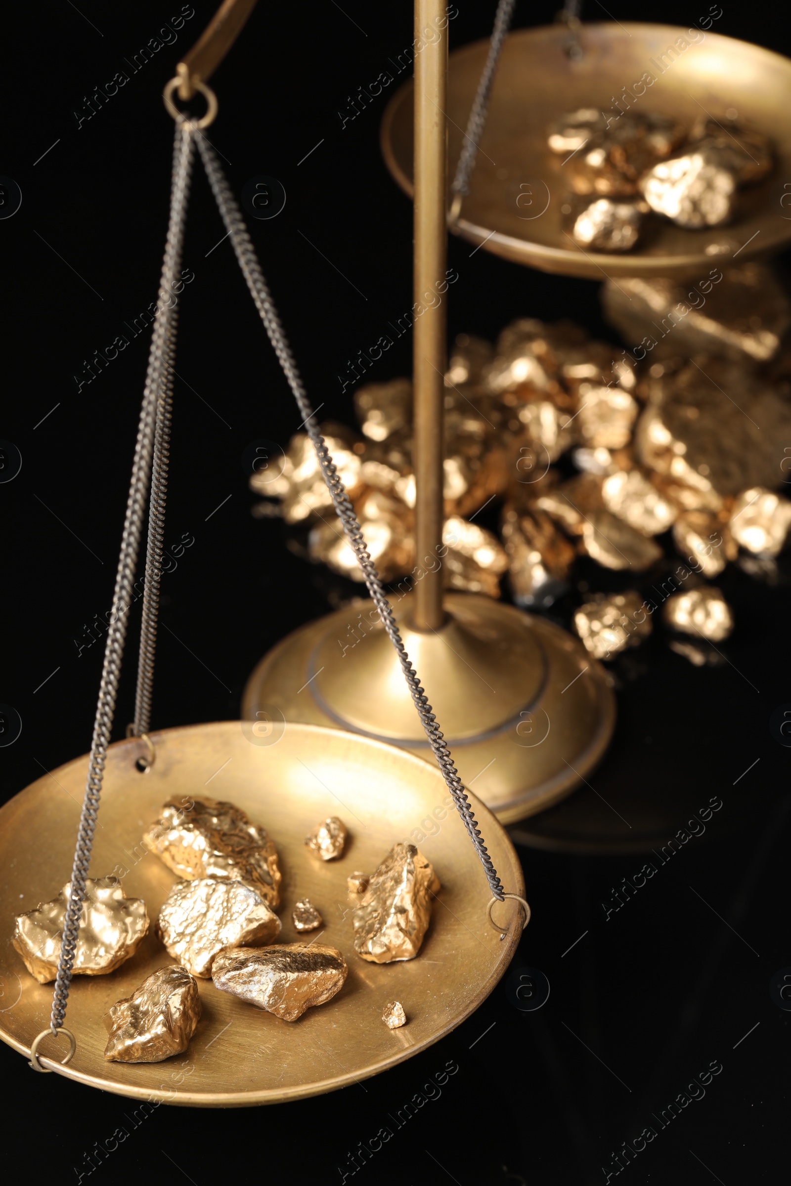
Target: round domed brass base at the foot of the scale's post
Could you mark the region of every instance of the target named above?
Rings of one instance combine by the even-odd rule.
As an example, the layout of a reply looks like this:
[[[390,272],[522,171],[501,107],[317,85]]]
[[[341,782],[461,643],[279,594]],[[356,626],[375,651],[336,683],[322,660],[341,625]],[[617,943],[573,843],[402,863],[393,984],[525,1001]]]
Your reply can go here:
[[[404,646],[466,786],[503,823],[568,795],[601,758],[615,721],[602,668],[544,618],[448,593],[438,631],[395,606]],[[397,656],[374,602],[295,630],[250,676],[242,715],[362,733],[433,761]]]

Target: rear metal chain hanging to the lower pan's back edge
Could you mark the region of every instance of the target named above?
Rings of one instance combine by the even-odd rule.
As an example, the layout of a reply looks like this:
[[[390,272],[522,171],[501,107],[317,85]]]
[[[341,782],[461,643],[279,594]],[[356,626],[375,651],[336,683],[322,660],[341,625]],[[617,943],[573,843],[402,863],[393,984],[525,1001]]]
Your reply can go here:
[[[172,300],[172,294],[168,298]],[[132,732],[140,737],[148,733],[151,723],[151,697],[154,683],[154,655],[157,649],[157,621],[159,617],[159,586],[162,575],[162,548],[165,542],[165,500],[167,497],[167,470],[171,453],[171,420],[173,409],[173,364],[176,362],[176,331],[178,312],[172,308],[165,343],[161,388],[157,401],[157,428],[154,433],[154,459],[151,474],[151,503],[148,508],[148,547],[146,550],[146,578],[142,594],[142,624],[140,627],[140,652],[138,658],[138,689],[135,694],[134,725]]]

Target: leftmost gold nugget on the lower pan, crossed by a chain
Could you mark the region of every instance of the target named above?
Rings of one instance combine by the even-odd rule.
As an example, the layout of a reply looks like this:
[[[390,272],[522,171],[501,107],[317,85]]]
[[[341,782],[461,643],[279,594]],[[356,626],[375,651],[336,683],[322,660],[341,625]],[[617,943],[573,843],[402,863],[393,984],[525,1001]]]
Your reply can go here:
[[[55,980],[63,923],[71,895],[66,882],[57,898],[17,916],[13,945],[39,984]],[[135,954],[148,930],[142,898],[127,898],[117,878],[87,878],[72,970],[103,976]]]

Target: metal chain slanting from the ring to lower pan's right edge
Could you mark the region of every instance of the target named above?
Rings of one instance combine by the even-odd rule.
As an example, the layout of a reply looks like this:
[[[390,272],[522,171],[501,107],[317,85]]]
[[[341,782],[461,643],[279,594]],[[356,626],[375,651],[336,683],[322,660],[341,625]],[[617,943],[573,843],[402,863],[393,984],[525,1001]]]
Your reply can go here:
[[[234,244],[236,259],[238,260],[244,279],[247,280],[250,295],[253,296],[255,306],[261,314],[261,320],[263,321],[264,329],[269,336],[269,342],[272,343],[278,356],[278,361],[283,370],[283,374],[286,375],[286,378],[288,380],[288,385],[291,387],[294,398],[296,400],[300,416],[302,417],[307,433],[313,442],[315,455],[318,458],[319,466],[321,467],[324,480],[326,482],[332,497],[336,512],[343,524],[346,537],[355,550],[357,562],[363,570],[365,584],[368,585],[369,593],[371,594],[374,604],[379,612],[384,629],[387,630],[390,642],[395,646],[398,655],[401,669],[409,687],[409,691],[420,715],[422,726],[426,729],[426,737],[428,738],[430,747],[434,751],[434,755],[439,763],[440,770],[442,771],[445,782],[448,785],[448,790],[451,791],[457,810],[461,816],[461,821],[476,847],[476,852],[478,853],[480,862],[484,867],[486,880],[489,881],[491,891],[495,897],[502,901],[504,898],[503,885],[497,875],[497,869],[492,863],[492,859],[486,852],[486,847],[480,835],[480,829],[478,828],[472,806],[470,805],[470,801],[465,793],[464,784],[459,778],[453,758],[451,757],[451,751],[448,750],[440,732],[436,718],[434,716],[432,706],[428,703],[428,699],[421,687],[417,674],[409,661],[407,651],[404,650],[393,610],[390,608],[387,594],[382,587],[382,581],[379,580],[374,561],[368,551],[365,538],[361,530],[359,522],[357,521],[357,516],[355,515],[349,495],[346,493],[344,484],[338,476],[338,470],[332,461],[330,449],[319,432],[315,415],[305,393],[302,380],[299,370],[296,369],[296,363],[294,362],[291,352],[291,346],[288,345],[288,340],[280,323],[280,317],[272,301],[272,296],[269,295],[267,282],[263,279],[261,266],[256,257],[247,227],[244,225],[244,219],[242,218],[236,198],[225,180],[225,176],[217,157],[209,146],[209,142],[202,135],[198,135],[198,151],[203,158],[203,164],[209,177],[209,184],[211,185],[215,198],[217,199],[219,212],[223,222],[225,223],[225,229],[228,230],[230,241]]]

